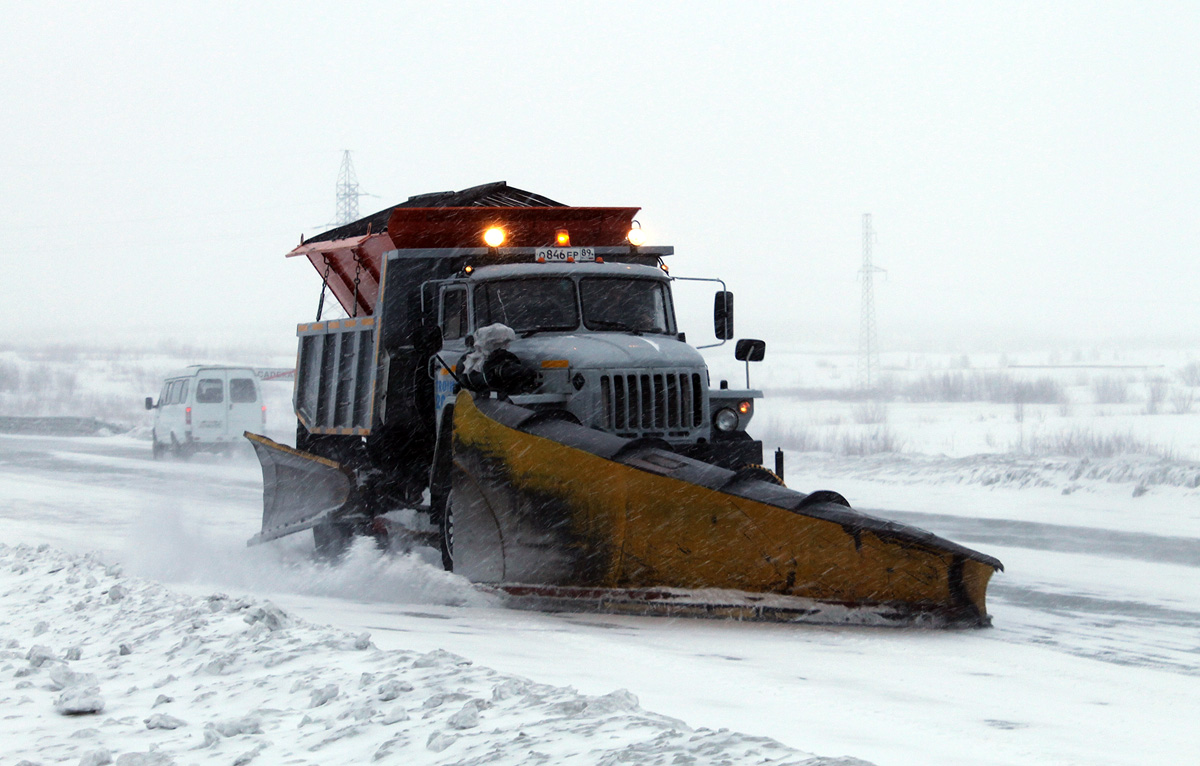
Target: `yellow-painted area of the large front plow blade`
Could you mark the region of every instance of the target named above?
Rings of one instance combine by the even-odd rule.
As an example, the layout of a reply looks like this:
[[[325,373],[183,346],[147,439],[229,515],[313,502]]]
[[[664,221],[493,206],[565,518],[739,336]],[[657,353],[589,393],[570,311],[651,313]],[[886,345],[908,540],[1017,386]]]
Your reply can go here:
[[[727,495],[509,429],[466,391],[455,438],[498,461],[511,489],[569,508],[572,538],[600,564],[598,587],[732,588],[851,605],[954,608],[955,555],[857,534],[833,521]],[[582,480],[586,478],[586,480]],[[966,559],[970,600],[986,614],[992,568]]]

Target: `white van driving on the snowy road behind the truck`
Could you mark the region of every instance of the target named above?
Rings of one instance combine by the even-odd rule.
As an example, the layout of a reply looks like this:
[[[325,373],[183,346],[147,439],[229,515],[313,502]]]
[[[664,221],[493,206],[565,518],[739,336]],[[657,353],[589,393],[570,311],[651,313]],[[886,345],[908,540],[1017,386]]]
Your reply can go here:
[[[172,372],[162,383],[154,409],[154,456],[168,450],[178,457],[198,451],[232,453],[244,431],[266,425],[258,378],[250,367],[193,365]]]

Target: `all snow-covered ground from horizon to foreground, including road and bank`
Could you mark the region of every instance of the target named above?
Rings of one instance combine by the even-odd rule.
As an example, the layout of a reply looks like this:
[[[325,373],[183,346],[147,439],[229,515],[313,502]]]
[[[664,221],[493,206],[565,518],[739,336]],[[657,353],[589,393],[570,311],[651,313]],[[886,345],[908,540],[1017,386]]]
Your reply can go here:
[[[875,400],[850,391],[850,355],[769,348],[751,369],[772,394],[752,430],[785,449],[791,486],[835,489],[1004,562],[994,627],[968,632],[515,612],[422,551],[359,545],[328,567],[305,539],[247,549],[262,491],[250,454],[155,462],[138,412],[158,376],[199,360],[289,361],[0,349],[0,415],[133,427],[0,435],[2,762],[1200,753],[1200,388],[1187,353],[886,355]],[[744,375],[714,364],[733,385]],[[278,436],[288,395],[269,389]]]

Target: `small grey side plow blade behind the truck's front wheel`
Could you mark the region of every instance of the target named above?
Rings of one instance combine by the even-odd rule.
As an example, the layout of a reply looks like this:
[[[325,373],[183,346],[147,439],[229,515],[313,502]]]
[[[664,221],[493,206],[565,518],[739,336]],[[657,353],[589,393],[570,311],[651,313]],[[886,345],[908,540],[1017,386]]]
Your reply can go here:
[[[263,531],[246,541],[258,545],[310,529],[335,515],[354,489],[354,475],[340,463],[246,431],[263,466]]]

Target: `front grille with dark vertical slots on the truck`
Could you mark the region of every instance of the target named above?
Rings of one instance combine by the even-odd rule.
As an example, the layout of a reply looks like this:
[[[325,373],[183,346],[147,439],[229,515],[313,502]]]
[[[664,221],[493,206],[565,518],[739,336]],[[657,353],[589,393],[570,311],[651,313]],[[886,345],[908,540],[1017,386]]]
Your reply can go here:
[[[690,370],[600,376],[601,427],[622,436],[686,436],[704,421],[701,375]]]

